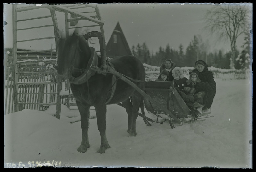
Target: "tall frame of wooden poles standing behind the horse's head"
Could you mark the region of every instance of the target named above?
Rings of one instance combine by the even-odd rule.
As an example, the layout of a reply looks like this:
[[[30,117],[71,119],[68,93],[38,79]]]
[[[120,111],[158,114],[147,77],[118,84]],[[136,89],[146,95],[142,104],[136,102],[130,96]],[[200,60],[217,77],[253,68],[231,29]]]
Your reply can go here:
[[[96,16],[88,16],[84,13],[78,12],[74,9],[76,8],[86,8],[86,7],[92,7],[95,8]],[[99,13],[99,9],[96,4],[64,4],[64,5],[49,5],[49,4],[41,4],[40,6],[37,6],[36,4],[34,5],[29,5],[27,7],[20,7],[17,8],[17,3],[13,3],[12,6],[12,20],[13,20],[13,59],[14,59],[14,111],[18,111],[18,99],[17,99],[17,91],[18,91],[18,69],[17,69],[17,12],[21,11],[28,11],[28,10],[34,10],[34,9],[39,9],[39,8],[48,8],[51,14],[52,22],[53,22],[53,27],[54,27],[54,37],[55,37],[55,44],[56,44],[56,59],[58,63],[58,43],[60,40],[60,33],[59,33],[59,28],[58,28],[58,21],[56,17],[55,11],[59,12],[64,12],[65,13],[65,34],[68,36],[69,34],[69,22],[74,22],[74,21],[79,21],[79,20],[88,20],[91,22],[94,22],[98,25],[94,26],[99,26],[100,27],[100,33],[102,34],[103,40],[104,40],[104,48],[103,48],[103,56],[102,58],[105,58],[105,36],[104,36],[104,30],[103,30],[103,25],[104,22],[101,21],[101,16]],[[68,19],[68,14],[72,15],[72,19]],[[39,19],[38,18],[33,18],[33,19]],[[97,19],[95,19],[97,18]],[[29,19],[28,19],[29,20]],[[31,19],[30,19],[31,20]],[[94,26],[82,26],[82,27],[94,27]],[[31,29],[31,28],[27,28]],[[44,38],[38,38],[38,39],[44,39]],[[38,40],[38,39],[33,39],[33,40]],[[49,39],[49,38],[45,38]],[[31,40],[25,40],[25,41],[31,41]],[[45,50],[43,50],[45,51]],[[26,52],[42,52],[42,50],[38,51],[26,51]],[[99,52],[99,51],[98,51]],[[61,77],[57,78],[57,102],[56,102],[56,118],[60,119],[60,111],[61,111],[61,98],[60,98],[60,92],[62,90],[62,79]]]

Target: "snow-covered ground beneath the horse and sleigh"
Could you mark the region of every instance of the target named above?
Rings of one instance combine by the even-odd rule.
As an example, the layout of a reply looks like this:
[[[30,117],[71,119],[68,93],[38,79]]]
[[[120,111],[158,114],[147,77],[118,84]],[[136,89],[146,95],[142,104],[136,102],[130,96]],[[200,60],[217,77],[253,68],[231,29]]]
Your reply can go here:
[[[4,167],[48,163],[55,167],[252,168],[252,83],[215,81],[214,117],[177,124],[174,129],[167,121],[148,127],[138,117],[138,134],[128,137],[125,109],[108,105],[106,135],[111,148],[105,154],[96,153],[100,147],[97,119],[90,119],[91,147],[85,153],[77,151],[78,110],[62,105],[60,120],[53,116],[56,106],[4,115]],[[93,108],[91,116],[95,116]]]

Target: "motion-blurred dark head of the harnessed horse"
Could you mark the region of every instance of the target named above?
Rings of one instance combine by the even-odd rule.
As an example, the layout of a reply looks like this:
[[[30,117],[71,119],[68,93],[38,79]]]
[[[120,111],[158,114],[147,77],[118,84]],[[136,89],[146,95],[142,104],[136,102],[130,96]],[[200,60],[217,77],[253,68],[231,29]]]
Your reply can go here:
[[[58,66],[55,66],[57,73],[66,76],[72,69],[85,68],[90,56],[91,51],[84,37],[72,35],[66,39],[60,39]]]

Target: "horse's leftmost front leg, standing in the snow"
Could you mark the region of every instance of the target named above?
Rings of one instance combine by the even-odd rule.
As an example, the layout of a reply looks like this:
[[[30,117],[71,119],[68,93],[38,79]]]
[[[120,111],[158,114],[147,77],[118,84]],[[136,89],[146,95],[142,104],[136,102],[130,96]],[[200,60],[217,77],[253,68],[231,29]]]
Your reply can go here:
[[[87,148],[90,147],[88,139],[89,117],[90,117],[90,105],[76,101],[78,110],[81,115],[81,128],[82,128],[82,142],[77,151],[84,153]]]

